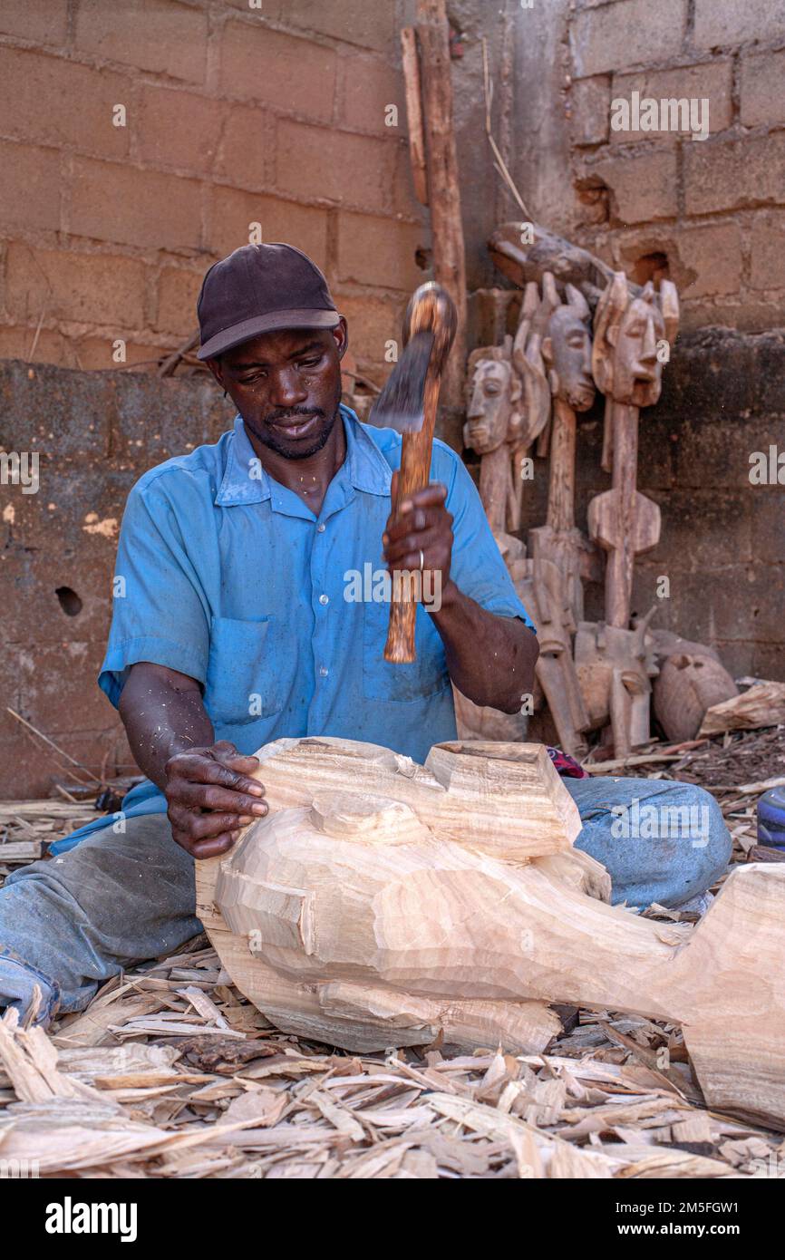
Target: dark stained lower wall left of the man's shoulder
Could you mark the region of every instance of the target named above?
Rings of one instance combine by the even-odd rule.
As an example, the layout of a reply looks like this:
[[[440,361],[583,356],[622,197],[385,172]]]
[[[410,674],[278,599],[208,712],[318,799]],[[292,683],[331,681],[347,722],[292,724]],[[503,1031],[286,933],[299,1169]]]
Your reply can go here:
[[[96,685],[125,500],[142,469],[215,441],[231,416],[207,378],[0,363],[3,442],[37,452],[39,479],[1,490],[0,799],[68,777],[6,706],[95,775],[134,772]]]

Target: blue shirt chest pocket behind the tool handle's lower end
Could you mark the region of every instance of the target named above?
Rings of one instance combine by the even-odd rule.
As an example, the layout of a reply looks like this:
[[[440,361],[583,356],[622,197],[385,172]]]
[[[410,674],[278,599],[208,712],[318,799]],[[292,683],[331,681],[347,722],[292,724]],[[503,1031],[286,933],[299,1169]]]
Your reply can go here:
[[[412,703],[437,696],[450,685],[445,649],[436,626],[422,607],[417,607],[415,650],[417,659],[407,665],[384,660],[389,626],[389,604],[368,602],[363,610],[363,696],[372,701]]]

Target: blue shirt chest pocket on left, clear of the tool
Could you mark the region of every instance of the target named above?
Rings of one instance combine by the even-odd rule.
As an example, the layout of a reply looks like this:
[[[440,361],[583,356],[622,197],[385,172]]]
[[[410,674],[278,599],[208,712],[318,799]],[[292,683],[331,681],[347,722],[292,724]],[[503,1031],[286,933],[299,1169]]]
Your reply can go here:
[[[204,707],[214,722],[241,726],[272,717],[284,707],[276,669],[276,619],[213,617]]]

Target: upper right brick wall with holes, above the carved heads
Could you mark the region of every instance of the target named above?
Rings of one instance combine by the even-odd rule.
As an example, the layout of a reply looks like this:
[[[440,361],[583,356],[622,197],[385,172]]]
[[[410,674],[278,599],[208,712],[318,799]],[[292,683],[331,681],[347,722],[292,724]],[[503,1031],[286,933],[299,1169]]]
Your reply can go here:
[[[566,26],[581,241],[640,278],[667,265],[684,329],[781,326],[785,5],[577,0]],[[708,139],[614,131],[611,102],[633,92],[706,98]]]

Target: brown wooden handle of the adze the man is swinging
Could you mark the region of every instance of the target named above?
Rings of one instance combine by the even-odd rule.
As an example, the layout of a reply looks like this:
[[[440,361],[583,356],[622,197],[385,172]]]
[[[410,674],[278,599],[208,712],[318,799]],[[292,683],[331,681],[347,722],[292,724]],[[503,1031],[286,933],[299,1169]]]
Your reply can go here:
[[[408,495],[415,494],[416,490],[423,490],[430,481],[440,381],[441,378],[437,372],[428,370],[425,382],[422,428],[416,433],[403,435],[396,512]],[[417,624],[417,602],[421,593],[421,573],[407,573],[406,571],[393,573],[389,630],[384,645],[384,660],[391,660],[396,664],[411,664],[417,659],[417,653],[415,651],[415,627]]]

